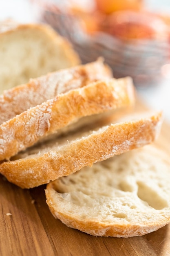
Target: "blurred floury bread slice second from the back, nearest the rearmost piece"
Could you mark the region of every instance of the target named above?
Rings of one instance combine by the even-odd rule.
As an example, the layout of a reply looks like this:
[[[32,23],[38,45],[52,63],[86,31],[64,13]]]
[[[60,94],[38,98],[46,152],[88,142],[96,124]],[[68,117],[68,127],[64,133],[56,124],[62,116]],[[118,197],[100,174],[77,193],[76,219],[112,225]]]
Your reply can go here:
[[[29,83],[5,90],[0,95],[0,124],[31,107],[53,99],[58,93],[65,93],[88,85],[90,82],[112,77],[110,68],[104,64],[102,58],[99,58],[86,65],[78,65],[31,79]]]

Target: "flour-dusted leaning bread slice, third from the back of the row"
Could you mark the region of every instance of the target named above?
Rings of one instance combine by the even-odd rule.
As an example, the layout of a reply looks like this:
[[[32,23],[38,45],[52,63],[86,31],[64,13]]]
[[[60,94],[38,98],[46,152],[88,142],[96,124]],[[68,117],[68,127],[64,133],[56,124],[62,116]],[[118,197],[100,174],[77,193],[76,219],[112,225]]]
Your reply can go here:
[[[81,117],[131,106],[135,90],[130,78],[97,81],[58,94],[0,125],[0,160],[32,146]]]

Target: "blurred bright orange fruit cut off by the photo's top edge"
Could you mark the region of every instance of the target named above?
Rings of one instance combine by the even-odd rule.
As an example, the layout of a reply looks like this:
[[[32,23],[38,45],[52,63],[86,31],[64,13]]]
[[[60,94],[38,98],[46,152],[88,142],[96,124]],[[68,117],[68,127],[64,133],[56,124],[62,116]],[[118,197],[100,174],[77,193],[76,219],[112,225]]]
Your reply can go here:
[[[143,0],[95,0],[97,9],[105,14],[120,10],[139,11],[143,7]]]

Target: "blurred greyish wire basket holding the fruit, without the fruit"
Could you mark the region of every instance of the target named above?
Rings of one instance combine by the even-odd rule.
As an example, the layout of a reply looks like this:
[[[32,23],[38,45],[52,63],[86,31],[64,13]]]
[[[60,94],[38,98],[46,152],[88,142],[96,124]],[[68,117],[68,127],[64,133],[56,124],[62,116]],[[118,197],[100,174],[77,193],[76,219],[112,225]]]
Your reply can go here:
[[[90,36],[82,29],[79,18],[55,7],[41,6],[39,21],[51,25],[68,38],[82,63],[103,56],[115,78],[131,76],[135,85],[140,87],[156,85],[163,79],[162,67],[170,63],[168,38],[127,42],[102,32]]]

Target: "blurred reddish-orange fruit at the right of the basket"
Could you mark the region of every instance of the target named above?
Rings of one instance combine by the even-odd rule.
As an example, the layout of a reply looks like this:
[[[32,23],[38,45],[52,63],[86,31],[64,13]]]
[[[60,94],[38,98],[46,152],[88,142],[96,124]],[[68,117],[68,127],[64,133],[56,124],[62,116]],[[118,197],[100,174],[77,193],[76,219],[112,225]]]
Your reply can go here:
[[[168,26],[156,14],[146,11],[117,11],[108,16],[102,30],[121,39],[162,39]]]

